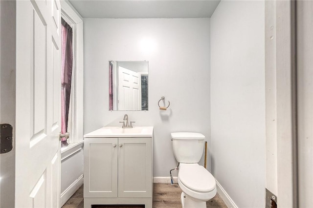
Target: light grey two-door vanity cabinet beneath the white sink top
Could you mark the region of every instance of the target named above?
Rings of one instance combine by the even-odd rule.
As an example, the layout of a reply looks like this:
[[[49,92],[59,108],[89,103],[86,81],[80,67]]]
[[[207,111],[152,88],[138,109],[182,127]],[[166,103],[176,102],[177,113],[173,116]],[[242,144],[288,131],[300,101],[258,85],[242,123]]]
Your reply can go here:
[[[152,208],[152,133],[151,137],[100,136],[85,135],[84,207],[137,204]]]

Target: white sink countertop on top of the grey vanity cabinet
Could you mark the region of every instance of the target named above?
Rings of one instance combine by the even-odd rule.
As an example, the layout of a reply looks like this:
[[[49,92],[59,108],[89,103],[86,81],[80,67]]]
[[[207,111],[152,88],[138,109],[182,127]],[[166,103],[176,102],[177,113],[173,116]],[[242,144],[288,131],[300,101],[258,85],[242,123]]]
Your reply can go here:
[[[135,126],[122,128],[106,126],[85,134],[84,137],[152,137],[153,126]]]

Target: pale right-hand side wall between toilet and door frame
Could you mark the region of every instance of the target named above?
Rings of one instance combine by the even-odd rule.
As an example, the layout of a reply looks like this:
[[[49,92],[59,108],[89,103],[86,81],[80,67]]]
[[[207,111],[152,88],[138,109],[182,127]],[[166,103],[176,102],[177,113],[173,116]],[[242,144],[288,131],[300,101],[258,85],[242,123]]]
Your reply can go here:
[[[264,1],[211,17],[212,172],[238,207],[265,207]]]

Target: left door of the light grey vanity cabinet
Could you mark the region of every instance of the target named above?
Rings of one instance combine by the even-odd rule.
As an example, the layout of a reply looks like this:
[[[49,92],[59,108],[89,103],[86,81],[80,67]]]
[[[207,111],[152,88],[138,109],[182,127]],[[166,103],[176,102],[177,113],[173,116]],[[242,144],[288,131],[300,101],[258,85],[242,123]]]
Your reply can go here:
[[[84,197],[117,197],[117,138],[85,138]]]

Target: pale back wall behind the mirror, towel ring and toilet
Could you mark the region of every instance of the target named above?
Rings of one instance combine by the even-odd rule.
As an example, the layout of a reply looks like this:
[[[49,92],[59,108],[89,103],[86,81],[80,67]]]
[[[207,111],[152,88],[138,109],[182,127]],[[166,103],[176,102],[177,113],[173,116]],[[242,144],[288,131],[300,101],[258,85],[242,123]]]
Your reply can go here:
[[[120,126],[125,113],[136,126],[154,126],[154,176],[169,176],[177,166],[171,132],[201,132],[210,144],[209,40],[205,18],[84,19],[84,133]],[[109,60],[149,61],[149,111],[108,110]],[[162,96],[167,111],[158,109]]]

